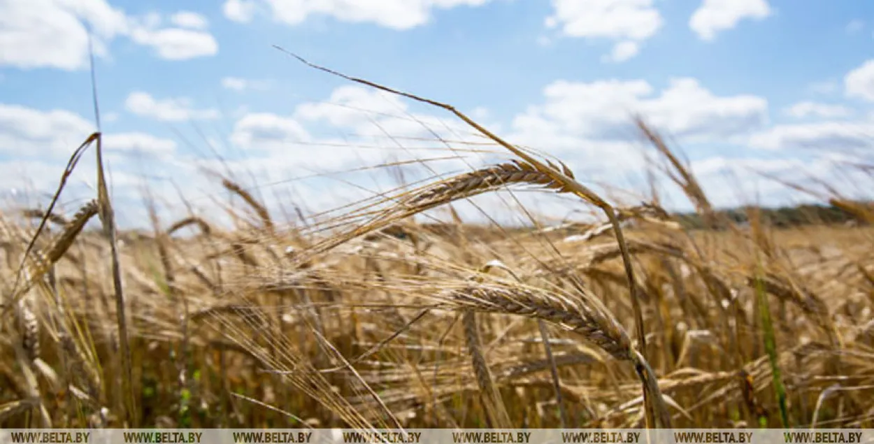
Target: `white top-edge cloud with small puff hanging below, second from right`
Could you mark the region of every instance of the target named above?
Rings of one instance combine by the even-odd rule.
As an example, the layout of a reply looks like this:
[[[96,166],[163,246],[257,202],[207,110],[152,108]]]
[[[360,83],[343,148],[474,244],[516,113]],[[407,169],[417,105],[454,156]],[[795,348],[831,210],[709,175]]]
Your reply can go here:
[[[619,40],[605,60],[621,62],[640,51],[643,40],[662,27],[662,15],[652,0],[552,0],[554,13],[546,25],[568,37]]]

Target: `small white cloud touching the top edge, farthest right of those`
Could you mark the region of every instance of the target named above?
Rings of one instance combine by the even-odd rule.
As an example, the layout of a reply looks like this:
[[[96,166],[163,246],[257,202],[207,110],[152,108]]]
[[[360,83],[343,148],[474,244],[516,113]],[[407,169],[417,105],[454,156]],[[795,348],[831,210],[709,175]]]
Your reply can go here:
[[[698,38],[713,40],[720,31],[734,28],[745,18],[762,19],[771,15],[767,0],[704,0],[692,13],[689,26]]]

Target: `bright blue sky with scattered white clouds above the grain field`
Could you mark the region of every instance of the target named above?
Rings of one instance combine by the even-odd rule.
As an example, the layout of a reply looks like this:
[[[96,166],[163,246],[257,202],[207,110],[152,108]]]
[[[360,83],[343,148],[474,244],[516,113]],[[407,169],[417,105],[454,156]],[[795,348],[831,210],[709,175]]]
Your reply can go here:
[[[718,205],[801,198],[761,173],[871,190],[846,164],[871,159],[874,140],[869,1],[0,0],[3,198],[45,202],[94,131],[89,32],[123,224],[142,221],[146,185],[168,211],[187,211],[180,196],[198,211],[224,202],[205,169],[274,208],[318,210],[397,177],[298,178],[480,147],[454,144],[475,139],[445,112],[273,45],[451,103],[606,190],[645,189],[633,114],[683,149]],[[66,203],[93,195],[92,159]]]

